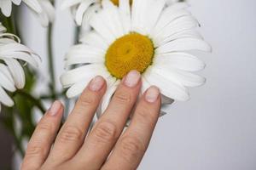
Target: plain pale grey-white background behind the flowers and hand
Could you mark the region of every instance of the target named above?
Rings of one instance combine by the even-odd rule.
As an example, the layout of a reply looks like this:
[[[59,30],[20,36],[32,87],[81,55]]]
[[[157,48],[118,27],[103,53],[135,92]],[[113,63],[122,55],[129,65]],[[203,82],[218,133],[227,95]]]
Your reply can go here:
[[[60,1],[59,1],[60,3]],[[141,170],[256,169],[256,1],[190,0],[201,33],[212,44],[202,54],[207,84],[191,89],[189,102],[172,105],[160,119]],[[26,44],[43,58],[45,29],[26,11],[20,23]],[[55,22],[56,76],[73,42],[73,20],[58,9]],[[58,80],[56,82],[61,88]]]

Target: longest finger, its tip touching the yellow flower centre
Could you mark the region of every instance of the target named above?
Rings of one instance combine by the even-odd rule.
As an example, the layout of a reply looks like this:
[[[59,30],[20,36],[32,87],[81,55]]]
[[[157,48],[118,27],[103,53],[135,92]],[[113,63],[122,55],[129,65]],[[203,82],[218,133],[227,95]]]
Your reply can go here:
[[[107,110],[75,156],[77,165],[90,165],[88,169],[99,169],[102,166],[125,127],[140,88],[140,73],[131,71],[120,83]]]

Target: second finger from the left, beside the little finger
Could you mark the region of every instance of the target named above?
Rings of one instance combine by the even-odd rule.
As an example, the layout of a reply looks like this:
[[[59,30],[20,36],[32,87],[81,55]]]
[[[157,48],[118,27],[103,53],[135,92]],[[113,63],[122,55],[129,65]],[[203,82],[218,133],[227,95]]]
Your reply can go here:
[[[90,122],[95,115],[106,90],[106,82],[102,77],[95,77],[84,89],[72,113],[61,127],[54,147],[49,155],[49,161],[59,164],[71,159],[84,143]]]

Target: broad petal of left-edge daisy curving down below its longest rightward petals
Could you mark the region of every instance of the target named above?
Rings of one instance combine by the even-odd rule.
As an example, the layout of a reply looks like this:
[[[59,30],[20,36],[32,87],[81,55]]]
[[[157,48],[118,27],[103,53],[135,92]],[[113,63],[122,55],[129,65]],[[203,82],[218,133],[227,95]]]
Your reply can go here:
[[[20,63],[16,59],[3,59],[6,65],[9,67],[9,71],[11,72],[16,88],[24,88],[25,86],[25,73]]]

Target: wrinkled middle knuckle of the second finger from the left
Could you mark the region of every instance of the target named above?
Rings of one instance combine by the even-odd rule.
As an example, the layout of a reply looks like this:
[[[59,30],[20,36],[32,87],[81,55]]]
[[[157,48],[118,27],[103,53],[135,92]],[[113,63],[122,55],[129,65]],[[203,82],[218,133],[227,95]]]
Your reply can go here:
[[[61,132],[60,140],[61,142],[68,142],[68,141],[78,141],[83,137],[83,132],[74,126],[67,126],[64,127],[63,131]]]

